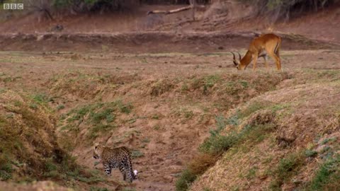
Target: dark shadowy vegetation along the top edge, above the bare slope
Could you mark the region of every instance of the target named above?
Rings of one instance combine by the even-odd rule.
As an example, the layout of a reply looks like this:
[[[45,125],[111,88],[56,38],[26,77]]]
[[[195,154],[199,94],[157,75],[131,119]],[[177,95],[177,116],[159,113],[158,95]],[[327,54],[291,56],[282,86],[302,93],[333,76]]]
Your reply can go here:
[[[300,16],[302,13],[319,11],[329,6],[339,6],[339,0],[238,0],[242,4],[254,7],[252,17],[271,15],[271,21]],[[1,0],[0,4],[20,2],[25,4],[25,11],[53,13],[88,13],[103,11],[131,11],[141,5],[182,5],[190,4],[190,0]],[[197,4],[210,5],[225,3],[227,0],[196,0]]]

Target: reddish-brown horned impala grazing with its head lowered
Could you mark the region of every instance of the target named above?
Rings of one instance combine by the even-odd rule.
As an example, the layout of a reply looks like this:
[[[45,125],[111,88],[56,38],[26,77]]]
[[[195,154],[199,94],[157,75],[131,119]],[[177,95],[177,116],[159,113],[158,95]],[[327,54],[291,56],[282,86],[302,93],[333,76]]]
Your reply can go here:
[[[237,52],[237,54],[239,54],[239,60],[237,60],[235,54],[232,52],[233,62],[237,69],[244,70],[246,69],[246,66],[248,66],[250,62],[253,61],[253,70],[255,70],[257,58],[263,57],[266,68],[268,68],[268,54],[271,58],[275,60],[276,66],[278,67],[278,70],[280,70],[280,45],[281,38],[279,36],[274,34],[261,35],[251,41],[249,45],[249,50],[246,52],[243,58],[241,58],[241,54]]]

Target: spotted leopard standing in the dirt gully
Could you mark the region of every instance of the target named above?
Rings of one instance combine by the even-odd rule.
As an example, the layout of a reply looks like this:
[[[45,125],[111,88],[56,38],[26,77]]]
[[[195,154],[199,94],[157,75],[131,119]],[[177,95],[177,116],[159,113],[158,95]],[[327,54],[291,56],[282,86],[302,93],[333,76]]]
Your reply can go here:
[[[137,170],[132,171],[131,151],[125,146],[111,148],[97,143],[94,145],[94,158],[101,160],[108,176],[112,168],[119,168],[124,181],[127,181],[127,176],[130,183],[137,179]]]

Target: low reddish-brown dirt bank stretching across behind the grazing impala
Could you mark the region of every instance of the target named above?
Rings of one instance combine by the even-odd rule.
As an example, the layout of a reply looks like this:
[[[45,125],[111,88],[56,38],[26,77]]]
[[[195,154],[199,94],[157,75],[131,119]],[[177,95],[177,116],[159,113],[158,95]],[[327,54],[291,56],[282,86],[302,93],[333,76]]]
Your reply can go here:
[[[301,35],[279,34],[283,50],[339,48],[329,42]],[[221,52],[248,47],[255,33],[100,33],[0,35],[0,50],[16,51],[111,51],[111,52]]]

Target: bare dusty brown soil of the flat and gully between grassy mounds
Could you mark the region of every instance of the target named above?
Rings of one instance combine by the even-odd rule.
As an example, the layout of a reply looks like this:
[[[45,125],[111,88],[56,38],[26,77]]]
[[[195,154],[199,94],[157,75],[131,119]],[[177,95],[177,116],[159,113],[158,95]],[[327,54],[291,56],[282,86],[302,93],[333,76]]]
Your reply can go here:
[[[294,75],[308,69],[340,69],[339,50],[283,50],[281,55],[283,72]],[[137,190],[174,190],[176,177],[208,136],[209,129],[215,124],[215,115],[221,115],[230,108],[222,106],[215,94],[190,96],[188,93],[189,96],[186,96],[180,93],[181,83],[176,85],[176,79],[217,74],[255,77],[263,72],[275,76],[277,71],[273,61],[270,63],[271,69],[266,71],[260,60],[259,69],[253,74],[250,70],[237,72],[228,52],[1,52],[1,74],[11,76],[13,81],[2,81],[0,84],[2,88],[46,93],[55,97],[52,108],[60,104],[65,106],[57,112],[59,114],[89,102],[96,103],[99,99],[106,102],[123,98],[132,103],[132,113],[119,116],[125,122],[121,122],[117,130],[95,141],[104,141],[112,146],[125,145],[143,154],[134,159],[134,168],[140,171],[139,180],[125,186]],[[122,82],[118,82],[121,84],[118,88],[94,94],[94,97],[81,96],[72,91],[53,91],[56,86],[53,81],[60,80],[58,76],[67,79],[67,76],[77,74],[120,76],[118,81],[120,79]],[[174,90],[152,96],[150,86],[159,81],[169,81],[174,84]],[[252,92],[244,100],[259,94],[261,91]],[[82,135],[78,135],[77,139],[80,140],[79,145],[72,153],[81,165],[94,168],[91,141],[86,141]],[[113,179],[120,180],[118,171],[113,174]]]

